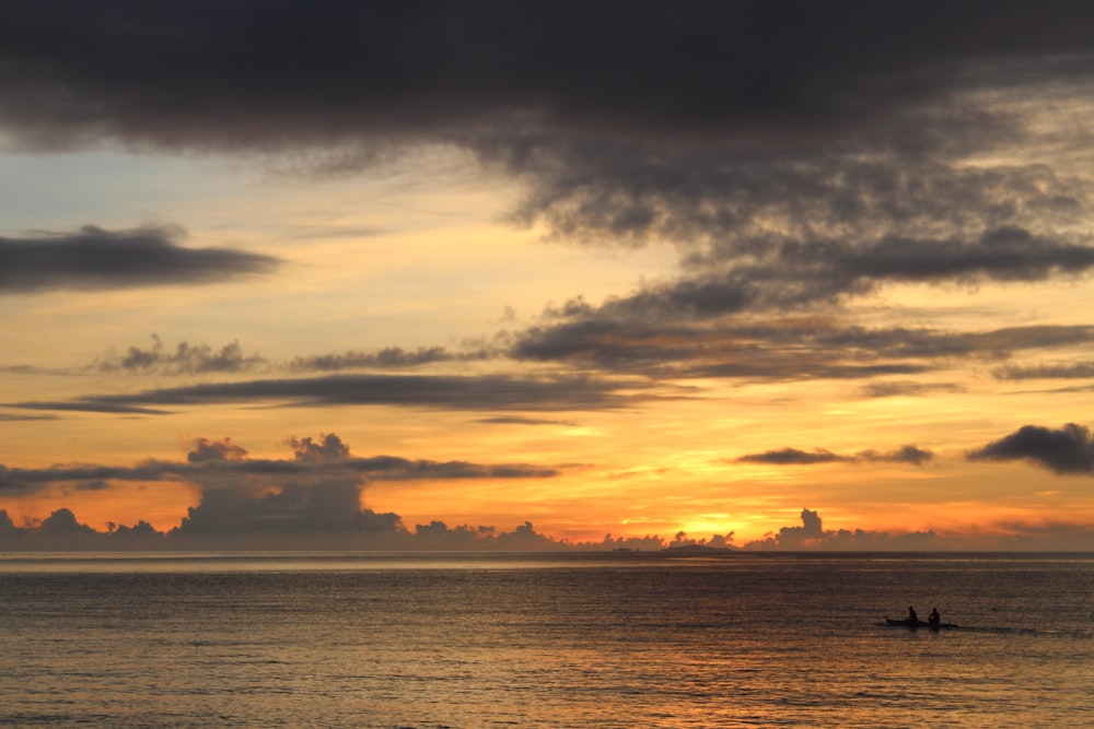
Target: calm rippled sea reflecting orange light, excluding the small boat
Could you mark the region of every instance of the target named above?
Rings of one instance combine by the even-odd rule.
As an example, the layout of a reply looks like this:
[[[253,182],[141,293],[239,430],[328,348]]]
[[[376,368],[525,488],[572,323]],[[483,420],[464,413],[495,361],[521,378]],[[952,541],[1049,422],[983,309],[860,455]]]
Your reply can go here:
[[[1094,555],[8,555],[0,618],[2,726],[1094,726]]]

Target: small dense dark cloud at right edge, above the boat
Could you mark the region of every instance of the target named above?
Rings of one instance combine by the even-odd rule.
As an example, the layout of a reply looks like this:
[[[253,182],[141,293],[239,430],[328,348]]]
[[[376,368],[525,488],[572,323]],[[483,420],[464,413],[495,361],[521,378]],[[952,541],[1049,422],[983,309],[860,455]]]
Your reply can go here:
[[[969,460],[1029,460],[1060,475],[1094,473],[1090,428],[1068,423],[1060,430],[1023,425],[1010,435],[968,454]]]

